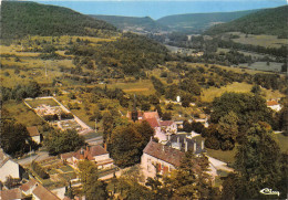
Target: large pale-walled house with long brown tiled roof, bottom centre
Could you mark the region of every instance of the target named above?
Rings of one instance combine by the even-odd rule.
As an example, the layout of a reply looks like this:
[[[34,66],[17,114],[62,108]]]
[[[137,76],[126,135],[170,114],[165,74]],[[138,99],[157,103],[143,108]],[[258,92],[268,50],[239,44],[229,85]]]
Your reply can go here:
[[[145,178],[156,173],[167,175],[179,167],[184,152],[162,144],[150,141],[143,150],[141,167]]]

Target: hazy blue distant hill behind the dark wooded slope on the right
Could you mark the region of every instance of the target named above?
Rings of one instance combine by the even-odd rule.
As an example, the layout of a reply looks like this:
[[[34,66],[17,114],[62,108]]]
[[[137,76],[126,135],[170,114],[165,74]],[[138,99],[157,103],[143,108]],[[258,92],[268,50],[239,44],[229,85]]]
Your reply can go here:
[[[157,22],[178,31],[202,31],[216,23],[229,22],[256,11],[176,14],[161,18]]]

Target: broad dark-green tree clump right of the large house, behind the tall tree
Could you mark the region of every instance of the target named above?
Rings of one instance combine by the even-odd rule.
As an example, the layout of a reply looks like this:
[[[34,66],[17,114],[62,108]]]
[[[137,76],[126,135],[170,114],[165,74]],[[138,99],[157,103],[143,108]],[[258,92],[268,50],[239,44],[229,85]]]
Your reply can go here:
[[[277,127],[266,101],[249,93],[224,93],[215,98],[210,120],[214,124],[202,131],[207,138],[205,146],[222,150],[232,150],[236,143],[244,143],[254,123]]]

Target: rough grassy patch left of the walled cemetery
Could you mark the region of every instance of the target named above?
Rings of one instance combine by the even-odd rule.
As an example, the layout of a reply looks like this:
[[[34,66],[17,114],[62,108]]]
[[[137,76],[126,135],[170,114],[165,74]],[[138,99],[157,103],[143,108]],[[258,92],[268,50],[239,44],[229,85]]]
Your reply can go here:
[[[25,126],[37,126],[42,124],[42,119],[22,102],[8,101],[3,103],[3,108],[9,112],[9,116],[16,118]]]

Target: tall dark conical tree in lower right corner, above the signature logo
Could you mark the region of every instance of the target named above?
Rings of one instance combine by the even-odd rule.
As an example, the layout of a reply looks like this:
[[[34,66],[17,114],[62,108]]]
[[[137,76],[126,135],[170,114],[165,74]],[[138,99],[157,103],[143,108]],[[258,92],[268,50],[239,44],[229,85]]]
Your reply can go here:
[[[259,191],[264,188],[281,189],[280,197],[287,194],[286,187],[279,186],[287,170],[281,170],[286,165],[281,162],[281,154],[275,141],[271,130],[259,124],[254,124],[248,129],[246,141],[239,146],[236,154],[236,173],[226,180],[224,194],[234,196],[236,199],[261,199],[265,198]],[[287,169],[287,166],[285,167]],[[227,181],[233,182],[233,187]],[[227,191],[230,190],[230,191]],[[232,191],[235,191],[232,193]],[[272,196],[271,196],[272,197]]]

